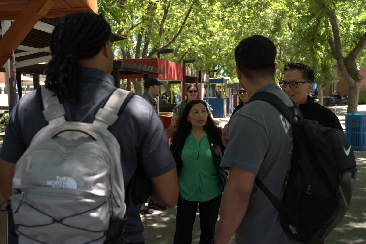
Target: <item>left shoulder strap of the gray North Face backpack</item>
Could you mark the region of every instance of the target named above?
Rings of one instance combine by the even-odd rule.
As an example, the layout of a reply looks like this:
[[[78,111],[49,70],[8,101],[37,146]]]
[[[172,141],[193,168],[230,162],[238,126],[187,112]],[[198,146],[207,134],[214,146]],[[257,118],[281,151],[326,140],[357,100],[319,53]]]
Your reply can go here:
[[[49,124],[65,121],[65,108],[60,103],[57,95],[53,95],[53,92],[46,89],[46,86],[40,86],[41,97],[43,103],[43,116]],[[38,93],[40,94],[40,93]]]

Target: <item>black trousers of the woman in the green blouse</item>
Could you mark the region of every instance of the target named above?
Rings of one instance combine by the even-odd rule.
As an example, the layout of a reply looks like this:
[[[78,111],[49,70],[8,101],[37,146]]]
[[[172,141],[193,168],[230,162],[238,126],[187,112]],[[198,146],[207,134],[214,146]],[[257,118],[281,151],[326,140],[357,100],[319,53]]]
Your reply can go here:
[[[208,244],[215,235],[215,224],[219,216],[221,193],[207,202],[187,201],[179,194],[177,203],[176,230],[173,244],[191,244],[194,219],[199,206],[199,227],[201,236],[199,244]]]

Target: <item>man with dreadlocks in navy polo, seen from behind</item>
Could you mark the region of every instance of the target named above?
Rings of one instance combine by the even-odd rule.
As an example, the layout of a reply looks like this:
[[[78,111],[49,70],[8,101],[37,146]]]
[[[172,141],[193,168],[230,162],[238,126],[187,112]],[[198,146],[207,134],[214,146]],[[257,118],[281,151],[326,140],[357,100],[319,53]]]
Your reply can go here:
[[[78,12],[60,19],[51,35],[52,59],[47,66],[46,89],[63,103],[67,121],[92,123],[98,109],[116,90],[110,75],[113,67],[111,27],[102,15]],[[42,114],[38,92],[26,94],[12,110],[0,154],[0,189],[11,196],[15,164],[33,136],[48,122]],[[179,196],[175,161],[163,125],[145,99],[133,96],[117,121],[108,128],[121,148],[124,185],[140,164],[152,180],[152,197],[173,207]],[[154,143],[151,143],[154,141]],[[143,243],[138,207],[126,196],[128,243]]]

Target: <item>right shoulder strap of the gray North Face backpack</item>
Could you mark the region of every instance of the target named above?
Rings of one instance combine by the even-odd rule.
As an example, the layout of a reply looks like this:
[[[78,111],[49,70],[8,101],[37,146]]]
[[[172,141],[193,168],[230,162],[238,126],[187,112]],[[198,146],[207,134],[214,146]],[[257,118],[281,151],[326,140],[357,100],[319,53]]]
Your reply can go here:
[[[130,101],[134,95],[135,93],[123,89],[116,89],[113,91],[104,107],[98,110],[93,124],[106,129],[113,125],[122,114],[128,101]]]

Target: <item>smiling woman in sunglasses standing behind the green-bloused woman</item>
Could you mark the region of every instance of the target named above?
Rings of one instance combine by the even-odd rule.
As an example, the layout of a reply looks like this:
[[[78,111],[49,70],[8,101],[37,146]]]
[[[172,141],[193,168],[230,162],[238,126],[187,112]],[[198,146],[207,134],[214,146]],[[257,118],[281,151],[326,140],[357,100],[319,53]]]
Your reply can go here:
[[[180,115],[182,114],[183,109],[187,105],[187,103],[190,101],[199,99],[198,87],[196,86],[195,83],[191,83],[187,86],[186,97],[187,97],[186,100],[178,102],[178,104],[175,105],[175,107],[173,108],[173,117],[172,117],[172,121],[171,121],[173,126],[176,126],[176,121],[179,120]],[[212,116],[213,109],[210,107],[210,105],[206,101],[203,101],[203,102],[205,102],[207,104],[207,107],[209,109],[209,115],[213,119],[213,116]]]

